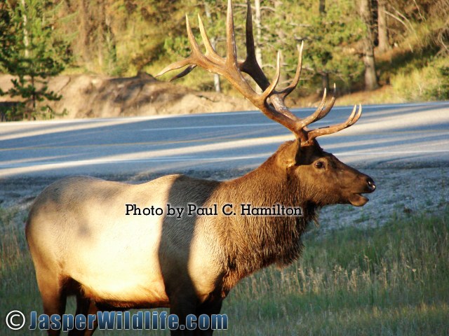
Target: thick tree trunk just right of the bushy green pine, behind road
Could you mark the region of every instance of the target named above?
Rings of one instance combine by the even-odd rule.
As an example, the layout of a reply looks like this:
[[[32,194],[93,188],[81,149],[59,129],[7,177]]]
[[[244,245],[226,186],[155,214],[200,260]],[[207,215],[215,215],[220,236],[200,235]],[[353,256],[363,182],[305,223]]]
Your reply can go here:
[[[366,25],[363,36],[363,63],[365,64],[365,89],[374,90],[377,85],[376,67],[374,60],[373,27],[371,25],[371,8],[369,0],[360,0],[360,15]]]

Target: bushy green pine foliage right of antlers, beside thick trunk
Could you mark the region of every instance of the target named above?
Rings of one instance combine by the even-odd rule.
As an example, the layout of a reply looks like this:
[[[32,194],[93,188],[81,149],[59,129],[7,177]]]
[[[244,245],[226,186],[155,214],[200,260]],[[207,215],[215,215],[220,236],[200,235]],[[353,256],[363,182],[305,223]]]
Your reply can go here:
[[[362,25],[353,12],[351,0],[320,0],[308,1],[294,13],[294,18],[300,18],[295,35],[304,41],[304,69],[315,74],[322,89],[335,81],[340,89],[351,87],[363,71],[353,50]]]

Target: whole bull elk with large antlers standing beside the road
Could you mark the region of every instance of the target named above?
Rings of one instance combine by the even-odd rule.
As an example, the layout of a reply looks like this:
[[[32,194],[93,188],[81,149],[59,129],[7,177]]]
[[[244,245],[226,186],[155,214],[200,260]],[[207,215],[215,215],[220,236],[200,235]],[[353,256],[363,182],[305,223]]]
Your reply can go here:
[[[236,58],[232,3],[227,8],[227,55],[215,52],[203,22],[199,28],[206,48],[203,54],[187,19],[192,54],[163,69],[195,66],[225,76],[244,97],[268,118],[285,126],[296,139],[282,144],[260,167],[232,181],[208,181],[168,175],[131,185],[91,177],[56,181],[36,197],[29,212],[26,236],[32,254],[44,312],[64,314],[68,295],[76,295],[76,314],[102,309],[169,307],[180,321],[187,314],[218,314],[222,301],[243,277],[273,263],[288,265],[302,251],[301,235],[317,211],[328,204],[368,202],[363,193],[375,190],[373,179],[326,153],[317,137],[354,125],[361,106],[342,124],[309,130],[328,114],[326,92],[318,109],[297,118],[285,98],[300,80],[302,47],[293,83],[275,90],[255,60],[251,9],[246,18],[247,57]],[[253,78],[263,92],[257,94],[243,77]],[[234,209],[215,216],[126,215],[137,207]],[[229,204],[235,204],[231,208]],[[302,216],[248,216],[240,204],[257,209],[301,207]],[[248,205],[249,207],[249,205]],[[129,211],[128,211],[129,212]],[[91,335],[93,330],[72,330]],[[177,330],[178,334],[210,335],[213,330]],[[59,330],[49,330],[58,335]]]

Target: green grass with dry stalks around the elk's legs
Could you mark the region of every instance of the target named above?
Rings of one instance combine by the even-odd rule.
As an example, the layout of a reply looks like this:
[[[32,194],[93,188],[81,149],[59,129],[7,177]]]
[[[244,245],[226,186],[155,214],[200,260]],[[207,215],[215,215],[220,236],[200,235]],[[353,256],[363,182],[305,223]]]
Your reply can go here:
[[[8,311],[42,312],[24,216],[0,209],[0,335],[27,334],[6,329]],[[290,267],[269,267],[232,290],[222,309],[229,330],[217,335],[449,335],[449,208],[382,228],[313,229],[304,243]],[[95,333],[106,334],[121,332]]]

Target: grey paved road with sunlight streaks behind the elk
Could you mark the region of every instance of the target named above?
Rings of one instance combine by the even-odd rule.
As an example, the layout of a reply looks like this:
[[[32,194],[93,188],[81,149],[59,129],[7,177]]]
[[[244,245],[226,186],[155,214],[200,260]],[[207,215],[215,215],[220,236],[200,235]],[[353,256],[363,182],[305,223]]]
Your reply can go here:
[[[316,126],[340,123],[350,111],[334,107]],[[1,123],[0,178],[255,167],[289,139],[259,111]],[[363,106],[356,125],[319,142],[356,165],[444,167],[449,102]]]

